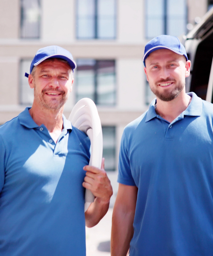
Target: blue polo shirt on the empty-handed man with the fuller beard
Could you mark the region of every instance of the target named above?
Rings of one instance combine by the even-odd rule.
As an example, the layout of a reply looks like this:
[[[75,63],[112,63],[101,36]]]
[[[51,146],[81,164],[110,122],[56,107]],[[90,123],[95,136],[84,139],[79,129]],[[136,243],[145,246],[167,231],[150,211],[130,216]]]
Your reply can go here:
[[[131,256],[213,255],[213,104],[189,95],[171,123],[153,100],[125,127],[118,182],[138,188]]]

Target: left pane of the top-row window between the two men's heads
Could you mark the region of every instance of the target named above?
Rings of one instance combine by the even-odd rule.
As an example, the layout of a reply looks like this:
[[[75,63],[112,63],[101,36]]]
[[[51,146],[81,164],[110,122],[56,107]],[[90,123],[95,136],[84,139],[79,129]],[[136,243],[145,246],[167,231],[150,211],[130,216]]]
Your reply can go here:
[[[77,1],[77,38],[95,36],[95,0]]]

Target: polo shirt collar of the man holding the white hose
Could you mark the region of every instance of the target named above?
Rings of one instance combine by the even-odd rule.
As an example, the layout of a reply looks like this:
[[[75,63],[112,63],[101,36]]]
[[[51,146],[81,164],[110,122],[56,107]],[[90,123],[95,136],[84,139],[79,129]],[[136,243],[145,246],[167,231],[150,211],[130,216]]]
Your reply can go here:
[[[18,115],[20,124],[24,125],[27,128],[32,128],[32,129],[40,127],[39,125],[37,125],[34,122],[33,118],[31,117],[31,115],[29,113],[29,109],[30,109],[30,107],[26,107],[25,110]],[[63,117],[64,129],[72,130],[71,122],[69,120],[67,120],[64,115],[62,117]]]

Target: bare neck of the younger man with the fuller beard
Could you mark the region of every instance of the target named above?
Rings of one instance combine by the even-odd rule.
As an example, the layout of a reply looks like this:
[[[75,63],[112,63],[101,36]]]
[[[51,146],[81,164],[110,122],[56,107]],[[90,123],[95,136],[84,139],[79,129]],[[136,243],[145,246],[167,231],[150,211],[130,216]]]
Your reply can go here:
[[[157,98],[156,112],[158,112],[162,118],[171,123],[184,110],[186,110],[190,102],[191,97],[185,92],[181,92],[175,99],[171,101],[162,101],[161,99]]]

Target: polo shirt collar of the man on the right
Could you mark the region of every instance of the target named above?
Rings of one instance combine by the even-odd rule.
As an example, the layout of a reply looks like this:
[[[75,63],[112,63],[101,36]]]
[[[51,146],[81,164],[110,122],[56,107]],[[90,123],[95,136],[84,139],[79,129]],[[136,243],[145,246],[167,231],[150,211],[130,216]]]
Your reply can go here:
[[[202,112],[202,99],[199,98],[195,93],[187,93],[192,97],[192,100],[186,110],[183,112],[185,116],[200,116]],[[147,116],[145,122],[157,117],[155,112],[156,98],[151,102],[149,109],[147,111]]]

